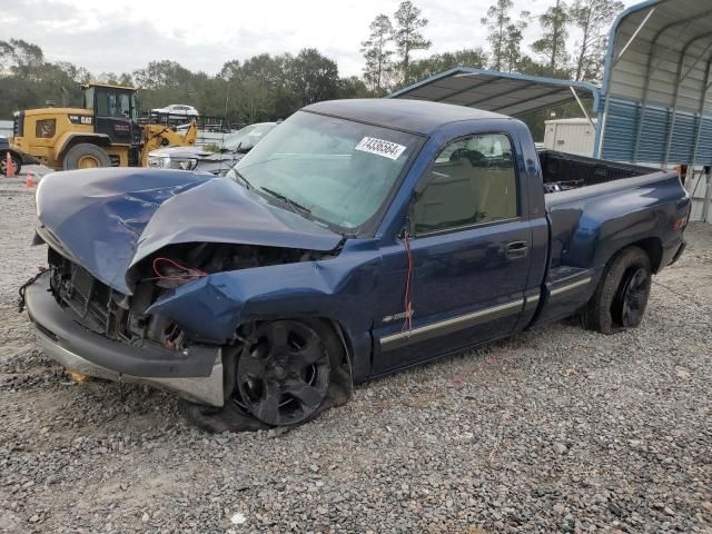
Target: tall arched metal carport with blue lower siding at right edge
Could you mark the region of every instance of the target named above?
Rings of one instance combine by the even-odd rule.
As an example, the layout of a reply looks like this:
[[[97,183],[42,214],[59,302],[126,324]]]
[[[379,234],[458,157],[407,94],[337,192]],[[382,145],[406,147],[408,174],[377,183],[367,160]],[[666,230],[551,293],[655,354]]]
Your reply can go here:
[[[625,10],[609,37],[596,154],[712,165],[711,69],[712,0],[649,0]],[[710,220],[709,169],[705,178],[700,170],[688,187],[693,217]]]

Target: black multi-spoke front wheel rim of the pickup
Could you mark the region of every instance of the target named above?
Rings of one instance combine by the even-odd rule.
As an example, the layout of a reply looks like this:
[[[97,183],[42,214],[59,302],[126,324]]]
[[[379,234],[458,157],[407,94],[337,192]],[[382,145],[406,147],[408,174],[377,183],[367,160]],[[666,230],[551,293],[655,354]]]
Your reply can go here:
[[[259,421],[274,426],[300,423],[326,398],[329,360],[319,336],[296,320],[258,328],[237,363],[237,399]]]

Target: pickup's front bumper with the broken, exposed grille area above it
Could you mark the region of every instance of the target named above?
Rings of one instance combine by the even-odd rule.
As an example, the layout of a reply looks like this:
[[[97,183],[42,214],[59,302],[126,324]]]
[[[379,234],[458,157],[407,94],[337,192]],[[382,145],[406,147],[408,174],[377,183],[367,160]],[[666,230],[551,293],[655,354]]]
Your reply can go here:
[[[187,338],[170,319],[146,315],[157,286],[123,295],[49,248],[49,269],[24,291],[43,352],[90,376],[172,390],[221,406],[222,349]]]

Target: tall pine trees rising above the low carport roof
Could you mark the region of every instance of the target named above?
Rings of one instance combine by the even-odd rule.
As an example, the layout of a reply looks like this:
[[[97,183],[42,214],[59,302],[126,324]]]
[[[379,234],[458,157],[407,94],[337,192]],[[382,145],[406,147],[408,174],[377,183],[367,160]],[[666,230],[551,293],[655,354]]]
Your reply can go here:
[[[382,96],[415,80],[463,66],[505,72],[599,81],[607,47],[607,29],[623,10],[617,0],[556,0],[545,12],[514,12],[513,0],[496,0],[481,19],[487,29],[487,47],[416,59],[428,50],[428,20],[411,1],[404,1],[393,18],[380,13],[362,42],[364,82],[374,96]],[[540,38],[524,47],[524,31],[537,21]],[[578,38],[570,50],[570,34]]]

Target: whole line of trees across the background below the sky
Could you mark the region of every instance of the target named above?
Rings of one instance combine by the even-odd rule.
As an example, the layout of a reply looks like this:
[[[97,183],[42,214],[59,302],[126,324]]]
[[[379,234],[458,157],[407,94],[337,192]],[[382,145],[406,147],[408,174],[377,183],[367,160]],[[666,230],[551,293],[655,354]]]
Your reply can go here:
[[[403,1],[392,14],[375,17],[362,42],[363,76],[339,75],[335,60],[314,48],[298,53],[263,53],[227,61],[219,72],[191,71],[177,61],[151,61],[132,72],[89,72],[67,61],[48,61],[40,47],[0,40],[0,118],[46,106],[81,105],[80,85],[101,81],[139,88],[144,110],[189,103],[233,123],[286,118],[303,106],[335,98],[379,97],[456,66],[595,81],[601,76],[605,31],[623,9],[617,0],[557,0],[537,17],[514,12],[513,0],[496,0],[482,23],[486,47],[431,53],[429,23]],[[525,48],[534,21],[540,38]],[[580,39],[570,49],[570,32]]]

